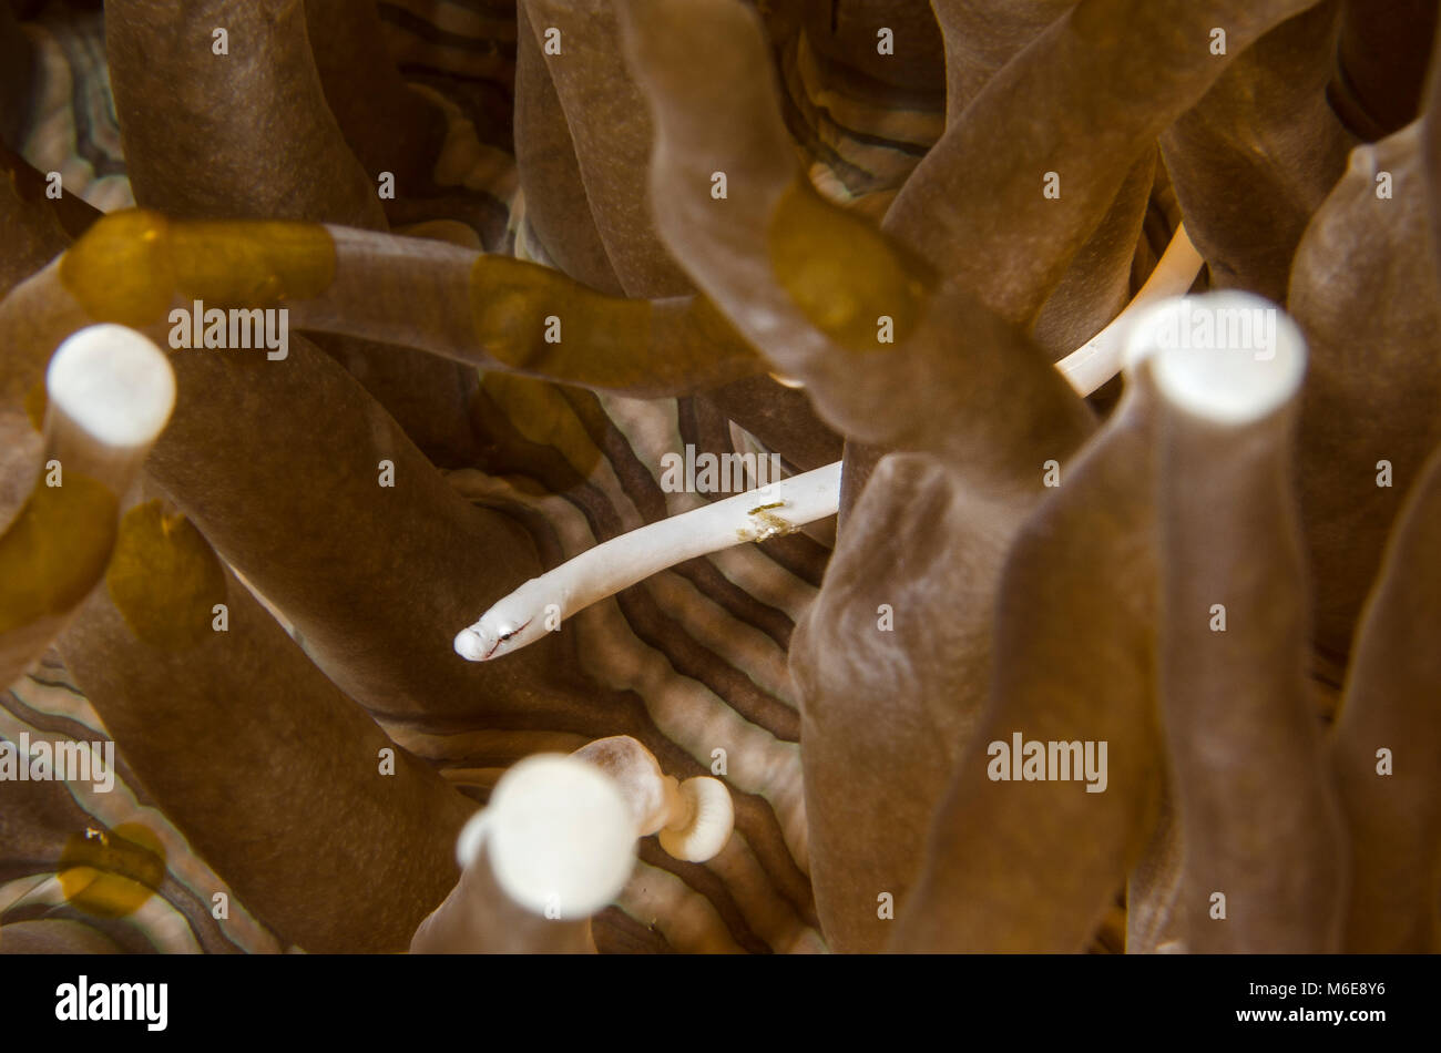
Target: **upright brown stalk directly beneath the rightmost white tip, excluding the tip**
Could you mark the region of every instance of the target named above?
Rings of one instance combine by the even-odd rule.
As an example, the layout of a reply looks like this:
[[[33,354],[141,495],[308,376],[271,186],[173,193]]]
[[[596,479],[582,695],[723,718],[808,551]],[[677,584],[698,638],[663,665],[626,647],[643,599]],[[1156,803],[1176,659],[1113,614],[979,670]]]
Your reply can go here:
[[[1233,425],[1161,406],[1160,696],[1186,945],[1336,951],[1344,834],[1307,687],[1310,588],[1288,480],[1295,405]]]

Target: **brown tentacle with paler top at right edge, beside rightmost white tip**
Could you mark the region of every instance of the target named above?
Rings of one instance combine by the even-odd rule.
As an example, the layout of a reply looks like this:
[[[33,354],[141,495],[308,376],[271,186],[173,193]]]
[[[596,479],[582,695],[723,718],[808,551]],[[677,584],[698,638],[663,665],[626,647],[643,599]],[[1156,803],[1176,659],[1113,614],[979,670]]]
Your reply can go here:
[[[1393,180],[1378,196],[1379,173]],[[1357,147],[1316,213],[1291,272],[1290,311],[1311,347],[1301,406],[1301,521],[1316,582],[1316,641],[1350,650],[1401,496],[1441,442],[1441,326],[1419,125]],[[1404,379],[1402,379],[1404,377]],[[1378,485],[1386,461],[1392,485]]]

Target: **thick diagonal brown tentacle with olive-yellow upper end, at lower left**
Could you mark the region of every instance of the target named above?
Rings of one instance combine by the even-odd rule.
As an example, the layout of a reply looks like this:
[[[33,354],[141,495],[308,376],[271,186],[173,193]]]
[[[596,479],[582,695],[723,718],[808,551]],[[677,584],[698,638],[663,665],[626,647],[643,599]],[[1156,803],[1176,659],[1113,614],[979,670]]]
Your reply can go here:
[[[125,513],[107,586],[61,653],[166,815],[284,939],[398,951],[445,896],[470,804],[342,694],[161,501]]]

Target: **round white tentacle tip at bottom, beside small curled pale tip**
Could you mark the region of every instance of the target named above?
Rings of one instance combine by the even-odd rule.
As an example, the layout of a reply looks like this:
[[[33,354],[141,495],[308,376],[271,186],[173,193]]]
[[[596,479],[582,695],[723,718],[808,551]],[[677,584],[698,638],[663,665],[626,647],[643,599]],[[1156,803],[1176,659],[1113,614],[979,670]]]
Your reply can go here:
[[[486,848],[506,895],[546,918],[589,918],[620,895],[635,866],[635,823],[604,772],[537,753],[496,784]]]

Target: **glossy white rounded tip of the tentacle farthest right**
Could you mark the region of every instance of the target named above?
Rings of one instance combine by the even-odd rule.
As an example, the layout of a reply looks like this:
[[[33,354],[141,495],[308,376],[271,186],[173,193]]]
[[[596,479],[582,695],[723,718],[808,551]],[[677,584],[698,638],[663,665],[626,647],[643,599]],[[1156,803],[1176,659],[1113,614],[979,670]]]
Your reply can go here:
[[[1167,300],[1136,320],[1127,370],[1144,360],[1161,398],[1177,409],[1218,425],[1244,425],[1300,390],[1306,339],[1270,300],[1208,292]]]

